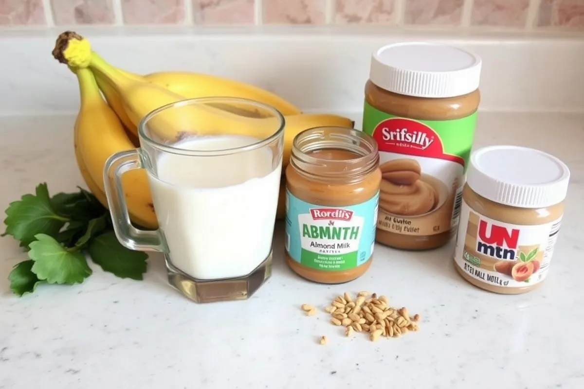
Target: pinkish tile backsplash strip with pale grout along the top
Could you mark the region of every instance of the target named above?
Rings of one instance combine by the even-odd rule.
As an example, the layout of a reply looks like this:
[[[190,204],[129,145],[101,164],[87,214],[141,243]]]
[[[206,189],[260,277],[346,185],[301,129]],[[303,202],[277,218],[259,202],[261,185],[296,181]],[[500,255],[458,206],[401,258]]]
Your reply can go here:
[[[584,0],[0,0],[0,27],[386,24],[584,31]]]

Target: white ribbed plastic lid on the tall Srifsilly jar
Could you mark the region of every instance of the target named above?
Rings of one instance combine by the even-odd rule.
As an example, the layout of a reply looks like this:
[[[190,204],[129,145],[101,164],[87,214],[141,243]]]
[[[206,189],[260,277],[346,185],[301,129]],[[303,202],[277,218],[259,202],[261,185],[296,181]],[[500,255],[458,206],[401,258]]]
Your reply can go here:
[[[454,97],[479,86],[481,58],[449,45],[406,42],[373,52],[369,79],[381,89],[416,97]]]

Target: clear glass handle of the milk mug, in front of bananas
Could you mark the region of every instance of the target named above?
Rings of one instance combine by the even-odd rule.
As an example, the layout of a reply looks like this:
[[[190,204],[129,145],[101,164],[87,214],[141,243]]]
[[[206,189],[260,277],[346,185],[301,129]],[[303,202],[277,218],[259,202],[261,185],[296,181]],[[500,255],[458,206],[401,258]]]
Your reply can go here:
[[[142,169],[139,149],[125,150],[110,156],[103,167],[103,183],[107,205],[112,215],[112,224],[117,240],[130,250],[161,251],[165,253],[166,245],[161,239],[160,231],[137,229],[130,222],[128,205],[121,184],[121,175],[132,169]]]

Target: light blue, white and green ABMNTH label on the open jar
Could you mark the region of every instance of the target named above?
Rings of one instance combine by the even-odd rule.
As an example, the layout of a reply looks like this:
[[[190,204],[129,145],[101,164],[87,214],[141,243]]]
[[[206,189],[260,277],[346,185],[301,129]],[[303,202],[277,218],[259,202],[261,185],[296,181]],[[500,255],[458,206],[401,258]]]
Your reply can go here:
[[[301,265],[353,269],[369,261],[375,244],[379,193],[351,206],[310,204],[286,190],[286,251]]]

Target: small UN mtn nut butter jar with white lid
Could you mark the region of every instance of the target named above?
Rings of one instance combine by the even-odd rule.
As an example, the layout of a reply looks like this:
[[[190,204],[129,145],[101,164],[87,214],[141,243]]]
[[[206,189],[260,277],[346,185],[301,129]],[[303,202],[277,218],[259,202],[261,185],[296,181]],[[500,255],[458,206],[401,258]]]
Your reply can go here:
[[[454,262],[468,282],[515,295],[541,285],[564,215],[570,171],[519,146],[474,152],[464,185]]]

